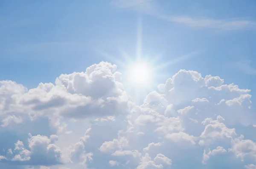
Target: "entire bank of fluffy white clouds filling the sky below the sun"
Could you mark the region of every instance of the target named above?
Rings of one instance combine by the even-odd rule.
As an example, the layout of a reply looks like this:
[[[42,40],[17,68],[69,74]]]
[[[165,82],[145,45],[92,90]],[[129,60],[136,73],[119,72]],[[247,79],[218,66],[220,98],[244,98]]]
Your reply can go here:
[[[35,89],[1,81],[0,132],[17,135],[3,142],[0,167],[255,167],[256,143],[241,135],[256,124],[249,89],[180,70],[135,106],[120,77],[101,62]],[[33,127],[43,119],[50,132]]]

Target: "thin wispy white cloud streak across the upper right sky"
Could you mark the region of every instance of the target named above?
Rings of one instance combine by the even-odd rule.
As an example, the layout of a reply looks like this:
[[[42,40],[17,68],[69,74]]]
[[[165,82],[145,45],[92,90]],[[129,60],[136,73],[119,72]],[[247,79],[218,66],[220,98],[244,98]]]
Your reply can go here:
[[[163,20],[184,24],[189,27],[219,29],[219,30],[241,30],[256,28],[256,22],[243,19],[218,20],[207,17],[190,16],[166,16],[157,10],[156,0],[112,0],[118,8],[136,9],[146,14],[154,15]]]

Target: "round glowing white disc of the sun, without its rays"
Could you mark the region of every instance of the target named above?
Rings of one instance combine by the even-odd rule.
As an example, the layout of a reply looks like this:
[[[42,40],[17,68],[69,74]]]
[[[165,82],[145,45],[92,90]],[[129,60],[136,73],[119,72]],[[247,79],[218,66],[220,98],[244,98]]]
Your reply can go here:
[[[154,70],[147,62],[137,61],[128,67],[129,83],[136,87],[149,87],[153,81]]]

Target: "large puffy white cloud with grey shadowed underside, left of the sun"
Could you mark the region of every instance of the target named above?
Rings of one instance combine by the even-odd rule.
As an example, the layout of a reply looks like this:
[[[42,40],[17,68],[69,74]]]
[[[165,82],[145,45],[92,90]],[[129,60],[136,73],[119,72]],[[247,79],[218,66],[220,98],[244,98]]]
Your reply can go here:
[[[132,103],[117,80],[120,73],[115,69],[115,65],[101,62],[88,67],[86,72],[61,74],[55,85],[40,83],[30,90],[12,81],[1,81],[1,111],[5,115],[2,126],[12,121],[21,123],[23,116],[90,118],[127,113]],[[10,115],[11,112],[18,117]]]

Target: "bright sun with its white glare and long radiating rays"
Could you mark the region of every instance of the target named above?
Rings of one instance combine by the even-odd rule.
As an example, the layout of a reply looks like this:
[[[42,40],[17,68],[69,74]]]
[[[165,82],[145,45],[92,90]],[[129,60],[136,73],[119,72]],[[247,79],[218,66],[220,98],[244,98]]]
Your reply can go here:
[[[125,89],[137,103],[141,102],[141,99],[145,97],[148,92],[154,91],[161,79],[170,77],[169,74],[163,73],[163,69],[198,55],[198,52],[192,52],[160,63],[162,53],[154,54],[149,57],[143,55],[142,35],[142,16],[139,15],[137,18],[135,56],[129,55],[122,47],[117,48],[120,53],[119,57],[96,50],[98,54],[117,65],[119,71],[122,72],[122,83]]]

